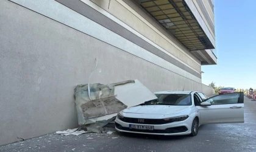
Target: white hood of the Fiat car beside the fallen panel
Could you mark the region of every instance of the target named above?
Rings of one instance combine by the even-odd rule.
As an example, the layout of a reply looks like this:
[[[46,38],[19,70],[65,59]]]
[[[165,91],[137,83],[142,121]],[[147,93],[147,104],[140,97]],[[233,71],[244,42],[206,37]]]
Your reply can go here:
[[[178,114],[189,108],[190,106],[143,105],[124,109],[123,112],[136,114]]]

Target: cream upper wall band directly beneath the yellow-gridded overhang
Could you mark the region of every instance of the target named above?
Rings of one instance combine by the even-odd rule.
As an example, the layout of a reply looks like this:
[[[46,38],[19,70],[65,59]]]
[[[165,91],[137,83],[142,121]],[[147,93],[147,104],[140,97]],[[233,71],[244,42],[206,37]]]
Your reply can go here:
[[[137,30],[137,32],[141,33],[143,36],[146,36],[149,40],[153,41],[158,46],[162,47],[175,57],[182,60],[184,63],[190,65],[196,71],[201,71],[201,62],[197,60],[193,54],[191,54],[185,47],[181,46],[179,47],[179,50],[176,45],[182,45],[180,44],[173,36],[169,35],[168,40],[163,38],[163,34],[161,32],[155,32],[154,29],[152,29],[150,26],[154,25],[157,27],[157,29],[162,29],[162,26],[159,26],[155,23],[155,21],[152,18],[149,18],[146,13],[144,13],[142,10],[140,10],[140,15],[142,15],[144,18],[146,18],[148,22],[150,22],[151,25],[146,24],[141,19],[141,16],[136,16],[134,13],[135,10],[139,10],[137,5],[133,4],[133,7],[129,7],[129,5],[126,5],[124,7],[125,3],[123,2],[122,5],[120,2],[122,1],[110,1],[110,6],[108,9],[108,1],[102,1],[102,0],[91,0],[95,4],[99,5],[102,9],[106,10],[107,12],[111,13],[116,18],[120,19],[121,21],[125,22],[128,26],[132,27],[133,29]],[[130,0],[129,0],[130,1]],[[86,1],[84,1],[86,2]],[[134,10],[135,9],[135,10]],[[164,30],[164,32],[166,32]]]

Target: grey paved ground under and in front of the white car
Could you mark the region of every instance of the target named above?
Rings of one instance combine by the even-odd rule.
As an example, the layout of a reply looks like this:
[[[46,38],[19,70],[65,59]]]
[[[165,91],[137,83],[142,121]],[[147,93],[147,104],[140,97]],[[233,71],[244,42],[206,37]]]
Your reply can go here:
[[[196,137],[140,134],[49,134],[0,151],[256,151],[256,102],[244,97],[245,123],[204,125]]]

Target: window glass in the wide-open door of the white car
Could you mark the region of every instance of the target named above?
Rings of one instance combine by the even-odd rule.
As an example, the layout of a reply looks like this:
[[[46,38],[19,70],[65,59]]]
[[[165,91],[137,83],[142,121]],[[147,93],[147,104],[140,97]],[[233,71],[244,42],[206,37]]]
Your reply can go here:
[[[216,95],[215,97],[208,98],[206,102],[212,105],[226,105],[226,104],[236,104],[240,98],[240,93],[235,94],[222,94]]]

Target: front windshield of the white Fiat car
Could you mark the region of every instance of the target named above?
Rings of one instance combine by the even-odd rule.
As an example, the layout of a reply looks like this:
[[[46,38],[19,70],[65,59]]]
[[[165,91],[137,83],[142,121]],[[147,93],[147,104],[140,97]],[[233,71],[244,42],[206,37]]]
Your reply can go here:
[[[190,94],[155,94],[157,99],[145,102],[144,105],[192,105]]]

